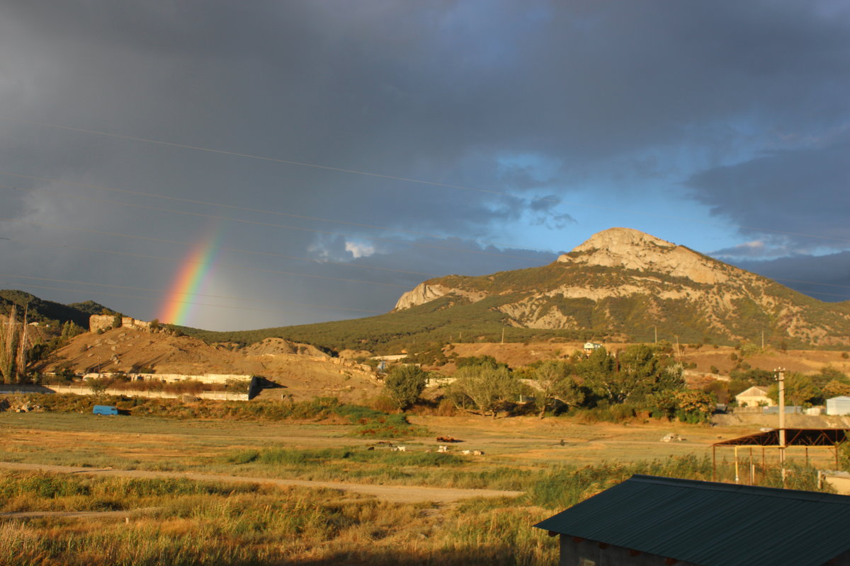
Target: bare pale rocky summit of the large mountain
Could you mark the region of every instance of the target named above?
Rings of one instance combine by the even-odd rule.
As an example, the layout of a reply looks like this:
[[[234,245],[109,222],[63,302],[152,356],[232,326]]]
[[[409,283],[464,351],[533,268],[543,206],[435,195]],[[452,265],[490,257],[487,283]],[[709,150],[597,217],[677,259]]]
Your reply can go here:
[[[569,254],[558,257],[558,261],[668,273],[696,283],[713,284],[728,280],[720,262],[632,228],[609,228],[593,234]]]

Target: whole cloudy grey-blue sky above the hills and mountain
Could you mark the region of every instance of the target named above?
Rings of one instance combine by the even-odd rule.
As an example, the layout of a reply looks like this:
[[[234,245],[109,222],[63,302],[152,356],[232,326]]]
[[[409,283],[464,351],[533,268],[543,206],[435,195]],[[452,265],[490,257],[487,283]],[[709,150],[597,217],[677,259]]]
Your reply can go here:
[[[621,226],[847,300],[848,66],[845,0],[5,0],[0,288],[264,328]]]

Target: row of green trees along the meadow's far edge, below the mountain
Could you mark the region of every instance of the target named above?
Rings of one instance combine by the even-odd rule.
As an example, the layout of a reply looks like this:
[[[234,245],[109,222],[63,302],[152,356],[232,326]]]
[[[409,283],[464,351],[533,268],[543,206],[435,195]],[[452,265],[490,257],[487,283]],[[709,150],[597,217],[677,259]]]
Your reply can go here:
[[[599,409],[630,417],[647,412],[700,422],[711,416],[716,399],[704,391],[686,389],[682,364],[650,345],[631,345],[589,356],[576,352],[566,360],[539,361],[512,370],[492,356],[457,358],[454,381],[445,399],[466,412],[496,417],[533,403],[539,417],[573,409]],[[428,373],[399,365],[385,380],[388,395],[404,410],[422,394]]]

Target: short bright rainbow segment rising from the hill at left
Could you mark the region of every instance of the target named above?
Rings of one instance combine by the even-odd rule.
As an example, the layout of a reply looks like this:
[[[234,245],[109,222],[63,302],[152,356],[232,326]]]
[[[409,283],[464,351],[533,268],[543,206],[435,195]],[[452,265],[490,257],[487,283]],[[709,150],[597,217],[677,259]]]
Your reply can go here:
[[[218,239],[217,231],[212,231],[190,249],[163,301],[160,322],[185,325],[189,321],[195,311],[195,296],[207,280],[215,259]]]

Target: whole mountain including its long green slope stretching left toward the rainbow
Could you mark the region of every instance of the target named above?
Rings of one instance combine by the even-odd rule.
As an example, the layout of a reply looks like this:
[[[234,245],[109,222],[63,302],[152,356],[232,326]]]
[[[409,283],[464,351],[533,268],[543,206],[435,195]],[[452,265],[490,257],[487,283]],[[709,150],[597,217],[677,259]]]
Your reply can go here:
[[[269,336],[328,350],[422,350],[429,342],[541,339],[850,344],[850,301],[825,303],[684,246],[610,228],[547,266],[435,277],[377,317],[249,332],[185,329],[207,341]]]

